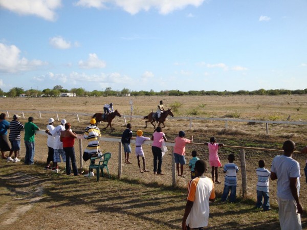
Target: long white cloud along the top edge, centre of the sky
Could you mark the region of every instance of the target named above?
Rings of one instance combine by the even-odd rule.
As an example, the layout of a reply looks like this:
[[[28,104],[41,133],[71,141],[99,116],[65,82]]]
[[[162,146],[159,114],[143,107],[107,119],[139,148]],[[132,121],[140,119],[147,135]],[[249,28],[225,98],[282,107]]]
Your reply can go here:
[[[174,10],[183,9],[189,5],[199,7],[205,0],[79,0],[74,5],[81,7],[107,8],[107,5],[115,5],[123,8],[130,14],[137,14],[141,10],[148,11],[151,8],[158,9],[161,14],[168,14]]]

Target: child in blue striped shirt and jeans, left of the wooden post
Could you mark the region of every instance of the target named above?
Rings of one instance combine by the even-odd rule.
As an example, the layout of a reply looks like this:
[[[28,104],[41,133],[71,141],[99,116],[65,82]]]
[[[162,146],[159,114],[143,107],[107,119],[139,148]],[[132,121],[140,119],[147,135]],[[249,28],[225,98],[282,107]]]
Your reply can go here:
[[[228,155],[228,161],[224,166],[224,173],[225,175],[225,186],[224,186],[224,191],[222,195],[222,202],[225,202],[227,200],[229,191],[230,191],[230,196],[229,196],[229,202],[233,203],[235,202],[235,194],[236,194],[236,174],[239,171],[239,168],[233,163],[234,162],[234,155],[229,154]]]

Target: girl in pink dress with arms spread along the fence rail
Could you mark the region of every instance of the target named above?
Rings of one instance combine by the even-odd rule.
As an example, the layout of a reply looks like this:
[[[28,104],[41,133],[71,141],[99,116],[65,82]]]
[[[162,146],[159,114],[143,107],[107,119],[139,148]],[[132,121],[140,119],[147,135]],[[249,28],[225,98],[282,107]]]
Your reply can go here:
[[[211,166],[212,180],[215,183],[221,183],[221,181],[218,180],[218,167],[221,167],[222,164],[220,162],[220,158],[218,158],[217,152],[218,152],[218,148],[223,147],[224,144],[216,143],[216,138],[212,136],[210,138],[210,142],[205,143],[205,145],[208,146],[208,149],[209,149],[209,164]],[[214,172],[215,172],[215,180],[214,180]]]

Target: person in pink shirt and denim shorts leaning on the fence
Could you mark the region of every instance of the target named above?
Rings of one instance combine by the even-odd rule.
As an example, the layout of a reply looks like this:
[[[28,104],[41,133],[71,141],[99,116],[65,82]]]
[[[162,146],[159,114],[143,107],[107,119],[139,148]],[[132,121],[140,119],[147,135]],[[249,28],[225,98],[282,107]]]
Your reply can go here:
[[[176,163],[178,176],[183,176],[183,166],[186,164],[185,160],[185,145],[186,143],[193,142],[193,136],[191,136],[191,140],[184,138],[185,132],[179,131],[179,135],[175,138],[175,146],[174,146],[174,159]],[[180,164],[180,172],[179,173],[179,164]]]

